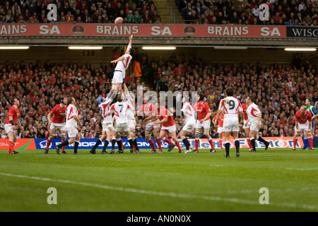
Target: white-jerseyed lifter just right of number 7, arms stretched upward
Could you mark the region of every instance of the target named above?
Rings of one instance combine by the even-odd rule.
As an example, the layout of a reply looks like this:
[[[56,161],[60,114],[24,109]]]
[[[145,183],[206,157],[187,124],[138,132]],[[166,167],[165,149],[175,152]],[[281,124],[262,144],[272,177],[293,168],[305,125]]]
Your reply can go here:
[[[136,119],[135,119],[135,100],[131,98],[129,95],[128,88],[126,86],[126,83],[124,83],[124,102],[127,102],[130,105],[130,108],[127,111],[127,119],[128,119],[128,126],[129,126],[129,133],[131,136],[131,141],[134,144],[134,146],[130,147],[130,153],[140,153],[140,150],[137,145],[137,141],[135,138],[135,129],[136,129]],[[130,141],[128,140],[130,143]],[[134,148],[136,150],[134,150]]]

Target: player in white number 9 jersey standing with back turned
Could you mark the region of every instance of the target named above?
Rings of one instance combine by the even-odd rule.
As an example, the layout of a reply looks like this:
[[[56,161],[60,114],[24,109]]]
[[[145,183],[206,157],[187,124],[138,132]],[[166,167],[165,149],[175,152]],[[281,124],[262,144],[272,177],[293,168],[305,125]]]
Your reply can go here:
[[[240,100],[233,97],[234,90],[232,88],[227,88],[225,90],[227,97],[220,101],[220,106],[218,107],[218,113],[216,114],[216,121],[214,121],[214,126],[218,125],[218,119],[220,114],[224,114],[223,121],[223,133],[224,133],[224,146],[226,155],[224,157],[230,157],[230,135],[234,138],[236,157],[240,157],[240,141],[238,140],[238,133],[240,131],[239,115],[241,121],[244,120],[243,109]]]

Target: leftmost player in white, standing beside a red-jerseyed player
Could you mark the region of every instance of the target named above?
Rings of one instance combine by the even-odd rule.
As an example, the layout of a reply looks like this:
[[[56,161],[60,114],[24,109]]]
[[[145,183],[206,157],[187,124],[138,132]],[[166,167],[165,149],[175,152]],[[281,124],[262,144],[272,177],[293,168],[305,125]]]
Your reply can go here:
[[[77,107],[75,107],[76,100],[74,97],[67,98],[67,107],[66,109],[66,123],[65,123],[65,129],[67,131],[67,134],[69,135],[69,141],[64,141],[63,143],[57,145],[55,147],[57,153],[59,154],[59,150],[61,147],[65,145],[70,145],[71,143],[74,143],[74,155],[78,155],[77,148],[79,145],[79,142],[81,141],[81,134],[78,133],[77,130],[77,124],[79,124],[80,127],[83,126],[80,119],[78,118],[78,111]]]

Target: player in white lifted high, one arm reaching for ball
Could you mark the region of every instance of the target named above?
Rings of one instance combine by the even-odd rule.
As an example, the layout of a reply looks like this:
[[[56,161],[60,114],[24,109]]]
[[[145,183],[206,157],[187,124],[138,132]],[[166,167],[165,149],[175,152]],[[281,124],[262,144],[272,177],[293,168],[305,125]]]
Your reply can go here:
[[[119,93],[122,92],[122,83],[124,82],[124,78],[126,76],[126,69],[128,69],[131,59],[134,57],[135,51],[131,49],[132,42],[131,35],[129,37],[129,44],[127,46],[126,52],[122,57],[115,59],[114,61],[110,61],[110,63],[117,64],[114,69],[114,76],[112,77],[112,91],[117,90]]]

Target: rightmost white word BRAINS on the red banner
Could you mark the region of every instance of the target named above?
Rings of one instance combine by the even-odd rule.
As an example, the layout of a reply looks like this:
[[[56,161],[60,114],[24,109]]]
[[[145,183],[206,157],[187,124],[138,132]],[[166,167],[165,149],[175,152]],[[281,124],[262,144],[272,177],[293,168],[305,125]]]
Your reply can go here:
[[[208,34],[220,36],[247,35],[248,27],[242,26],[208,26]]]

